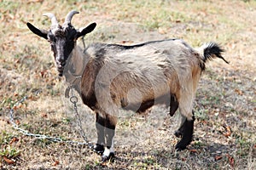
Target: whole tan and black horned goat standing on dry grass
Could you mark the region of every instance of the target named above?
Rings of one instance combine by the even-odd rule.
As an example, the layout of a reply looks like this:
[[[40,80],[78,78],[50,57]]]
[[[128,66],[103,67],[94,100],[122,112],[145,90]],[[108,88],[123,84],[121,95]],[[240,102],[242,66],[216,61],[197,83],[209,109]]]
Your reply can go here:
[[[26,26],[48,40],[59,76],[75,88],[84,105],[96,113],[97,142],[94,150],[102,161],[113,156],[113,136],[121,109],[147,111],[152,105],[170,107],[171,116],[179,109],[181,125],[175,135],[182,139],[177,150],[186,149],[194,129],[193,100],[205,63],[222,57],[224,50],[215,42],[191,48],[181,39],[167,39],[125,46],[92,43],[84,50],[76,41],[93,31],[96,23],[76,30],[67,14],[61,26],[54,14],[49,31]]]

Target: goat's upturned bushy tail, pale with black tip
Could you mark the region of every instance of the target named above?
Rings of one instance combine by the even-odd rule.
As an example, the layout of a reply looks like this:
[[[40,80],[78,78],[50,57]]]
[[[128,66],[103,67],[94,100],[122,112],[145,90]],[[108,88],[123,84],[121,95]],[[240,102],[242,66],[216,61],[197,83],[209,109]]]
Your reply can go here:
[[[207,43],[203,44],[200,48],[197,48],[197,51],[201,54],[201,59],[203,61],[203,65],[208,60],[212,60],[214,58],[223,59],[227,64],[229,64],[229,62],[226,59],[224,59],[224,57],[222,56],[224,49],[221,48],[218,45],[218,43],[207,42]]]

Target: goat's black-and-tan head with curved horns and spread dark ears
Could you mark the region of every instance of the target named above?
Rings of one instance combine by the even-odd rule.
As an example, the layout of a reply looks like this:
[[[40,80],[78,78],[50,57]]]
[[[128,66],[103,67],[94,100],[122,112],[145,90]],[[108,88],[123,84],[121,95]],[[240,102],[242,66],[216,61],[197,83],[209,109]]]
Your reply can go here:
[[[64,66],[76,45],[77,39],[87,33],[90,33],[90,31],[93,31],[96,27],[96,23],[92,23],[90,26],[76,30],[71,25],[71,20],[74,14],[79,14],[79,12],[74,10],[69,12],[62,26],[58,23],[54,14],[44,14],[44,16],[48,16],[51,20],[51,27],[49,31],[38,29],[37,27],[32,26],[32,24],[26,23],[26,26],[34,34],[39,37],[44,37],[44,39],[48,40],[50,43],[51,50],[55,56],[55,65],[59,71],[59,76],[63,75]]]

